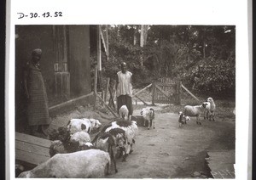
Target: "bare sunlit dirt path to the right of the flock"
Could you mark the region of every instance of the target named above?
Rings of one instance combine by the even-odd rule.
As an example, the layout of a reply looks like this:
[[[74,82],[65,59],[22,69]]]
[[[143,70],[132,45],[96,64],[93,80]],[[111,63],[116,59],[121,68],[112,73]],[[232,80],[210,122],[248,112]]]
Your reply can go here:
[[[139,115],[135,110],[134,115]],[[110,178],[192,178],[193,172],[207,176],[207,149],[235,149],[235,122],[202,121],[191,118],[178,128],[178,115],[157,113],[155,129],[138,127],[136,146],[127,162],[118,160],[119,172]]]

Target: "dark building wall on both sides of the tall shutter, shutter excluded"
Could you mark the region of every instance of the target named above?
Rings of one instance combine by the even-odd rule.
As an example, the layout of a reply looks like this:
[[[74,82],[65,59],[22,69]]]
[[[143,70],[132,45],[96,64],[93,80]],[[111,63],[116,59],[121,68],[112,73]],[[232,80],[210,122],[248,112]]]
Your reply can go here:
[[[90,25],[66,25],[67,65],[70,72],[70,98],[91,92],[90,80]],[[41,70],[47,90],[49,105],[63,102],[55,96],[56,44],[54,25],[15,26],[15,112],[16,118],[26,114],[23,70],[31,59],[32,50],[41,48]],[[68,100],[67,98],[64,100]],[[88,101],[90,103],[90,99]]]

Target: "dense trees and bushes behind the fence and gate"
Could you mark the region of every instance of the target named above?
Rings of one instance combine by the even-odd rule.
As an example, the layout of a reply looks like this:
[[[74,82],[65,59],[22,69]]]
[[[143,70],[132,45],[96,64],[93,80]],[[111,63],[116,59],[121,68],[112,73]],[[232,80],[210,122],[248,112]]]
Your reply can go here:
[[[105,76],[115,78],[119,63],[125,61],[137,86],[168,76],[198,92],[235,93],[235,26],[149,25],[143,48],[138,43],[139,29],[140,25],[108,28]]]

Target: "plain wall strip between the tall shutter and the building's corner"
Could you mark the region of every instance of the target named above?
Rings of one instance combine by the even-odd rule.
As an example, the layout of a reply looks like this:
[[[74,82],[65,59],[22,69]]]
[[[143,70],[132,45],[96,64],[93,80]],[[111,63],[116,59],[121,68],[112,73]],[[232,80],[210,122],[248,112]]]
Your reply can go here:
[[[90,25],[69,25],[68,37],[71,93],[90,93]]]

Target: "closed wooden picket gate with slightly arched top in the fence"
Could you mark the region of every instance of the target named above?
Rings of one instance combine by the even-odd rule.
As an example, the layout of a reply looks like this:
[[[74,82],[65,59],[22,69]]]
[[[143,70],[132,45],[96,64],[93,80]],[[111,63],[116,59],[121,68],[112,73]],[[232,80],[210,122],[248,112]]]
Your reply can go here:
[[[152,104],[180,104],[181,82],[163,77],[153,85]]]

